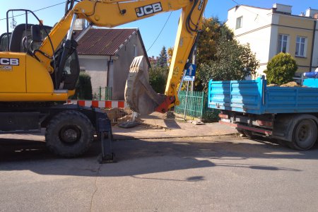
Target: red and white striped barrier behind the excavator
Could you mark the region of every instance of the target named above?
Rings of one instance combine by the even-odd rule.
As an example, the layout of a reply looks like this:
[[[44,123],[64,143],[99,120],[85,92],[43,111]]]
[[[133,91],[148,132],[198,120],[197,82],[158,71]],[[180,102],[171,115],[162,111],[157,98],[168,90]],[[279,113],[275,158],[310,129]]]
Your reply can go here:
[[[128,107],[125,101],[98,101],[98,100],[67,100],[68,104],[98,107],[98,108],[125,108]]]

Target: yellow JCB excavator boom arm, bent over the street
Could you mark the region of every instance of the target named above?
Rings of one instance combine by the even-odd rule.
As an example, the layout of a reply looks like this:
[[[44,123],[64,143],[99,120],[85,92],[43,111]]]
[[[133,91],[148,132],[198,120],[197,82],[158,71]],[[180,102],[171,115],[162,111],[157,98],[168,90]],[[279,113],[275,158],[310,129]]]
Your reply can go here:
[[[78,2],[69,13],[54,26],[49,33],[52,45],[46,39],[40,47],[40,52],[52,57],[54,51],[59,47],[66,34],[71,34],[72,24],[75,18],[85,18],[90,24],[113,28],[134,20],[141,20],[154,16],[155,14],[182,9],[179,19],[179,27],[175,40],[175,48],[170,64],[170,71],[165,89],[166,100],[163,105],[157,105],[160,112],[165,112],[173,105],[179,105],[177,99],[177,87],[182,78],[184,67],[187,66],[189,54],[196,40],[197,33],[201,28],[201,18],[207,0],[83,0]],[[37,53],[40,62],[47,67],[49,73],[54,69],[51,59],[45,54]]]

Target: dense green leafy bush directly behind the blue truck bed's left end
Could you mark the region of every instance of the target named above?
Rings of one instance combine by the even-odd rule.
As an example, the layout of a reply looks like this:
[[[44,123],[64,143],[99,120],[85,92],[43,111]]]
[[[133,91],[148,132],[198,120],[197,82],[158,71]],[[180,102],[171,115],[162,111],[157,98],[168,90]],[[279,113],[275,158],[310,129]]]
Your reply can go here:
[[[201,64],[198,76],[204,90],[208,88],[208,81],[243,80],[255,73],[259,61],[249,48],[249,45],[240,45],[235,40],[223,40],[216,44],[214,59]]]

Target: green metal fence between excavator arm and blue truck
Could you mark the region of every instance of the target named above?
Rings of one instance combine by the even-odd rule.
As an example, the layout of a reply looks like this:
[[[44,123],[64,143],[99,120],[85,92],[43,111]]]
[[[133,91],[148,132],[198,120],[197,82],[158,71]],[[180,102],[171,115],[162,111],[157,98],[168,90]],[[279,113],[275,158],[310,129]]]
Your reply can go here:
[[[201,91],[181,90],[179,92],[180,105],[175,107],[175,113],[185,114],[189,117],[213,121],[218,119],[218,110],[208,108],[208,95]]]

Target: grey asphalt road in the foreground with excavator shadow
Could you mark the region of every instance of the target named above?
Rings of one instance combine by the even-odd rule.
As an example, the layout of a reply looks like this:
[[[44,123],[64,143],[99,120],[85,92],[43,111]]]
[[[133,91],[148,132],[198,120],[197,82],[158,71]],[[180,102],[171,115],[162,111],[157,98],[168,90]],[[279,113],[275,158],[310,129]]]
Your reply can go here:
[[[121,140],[118,163],[0,139],[0,211],[317,211],[318,148],[235,136]]]

